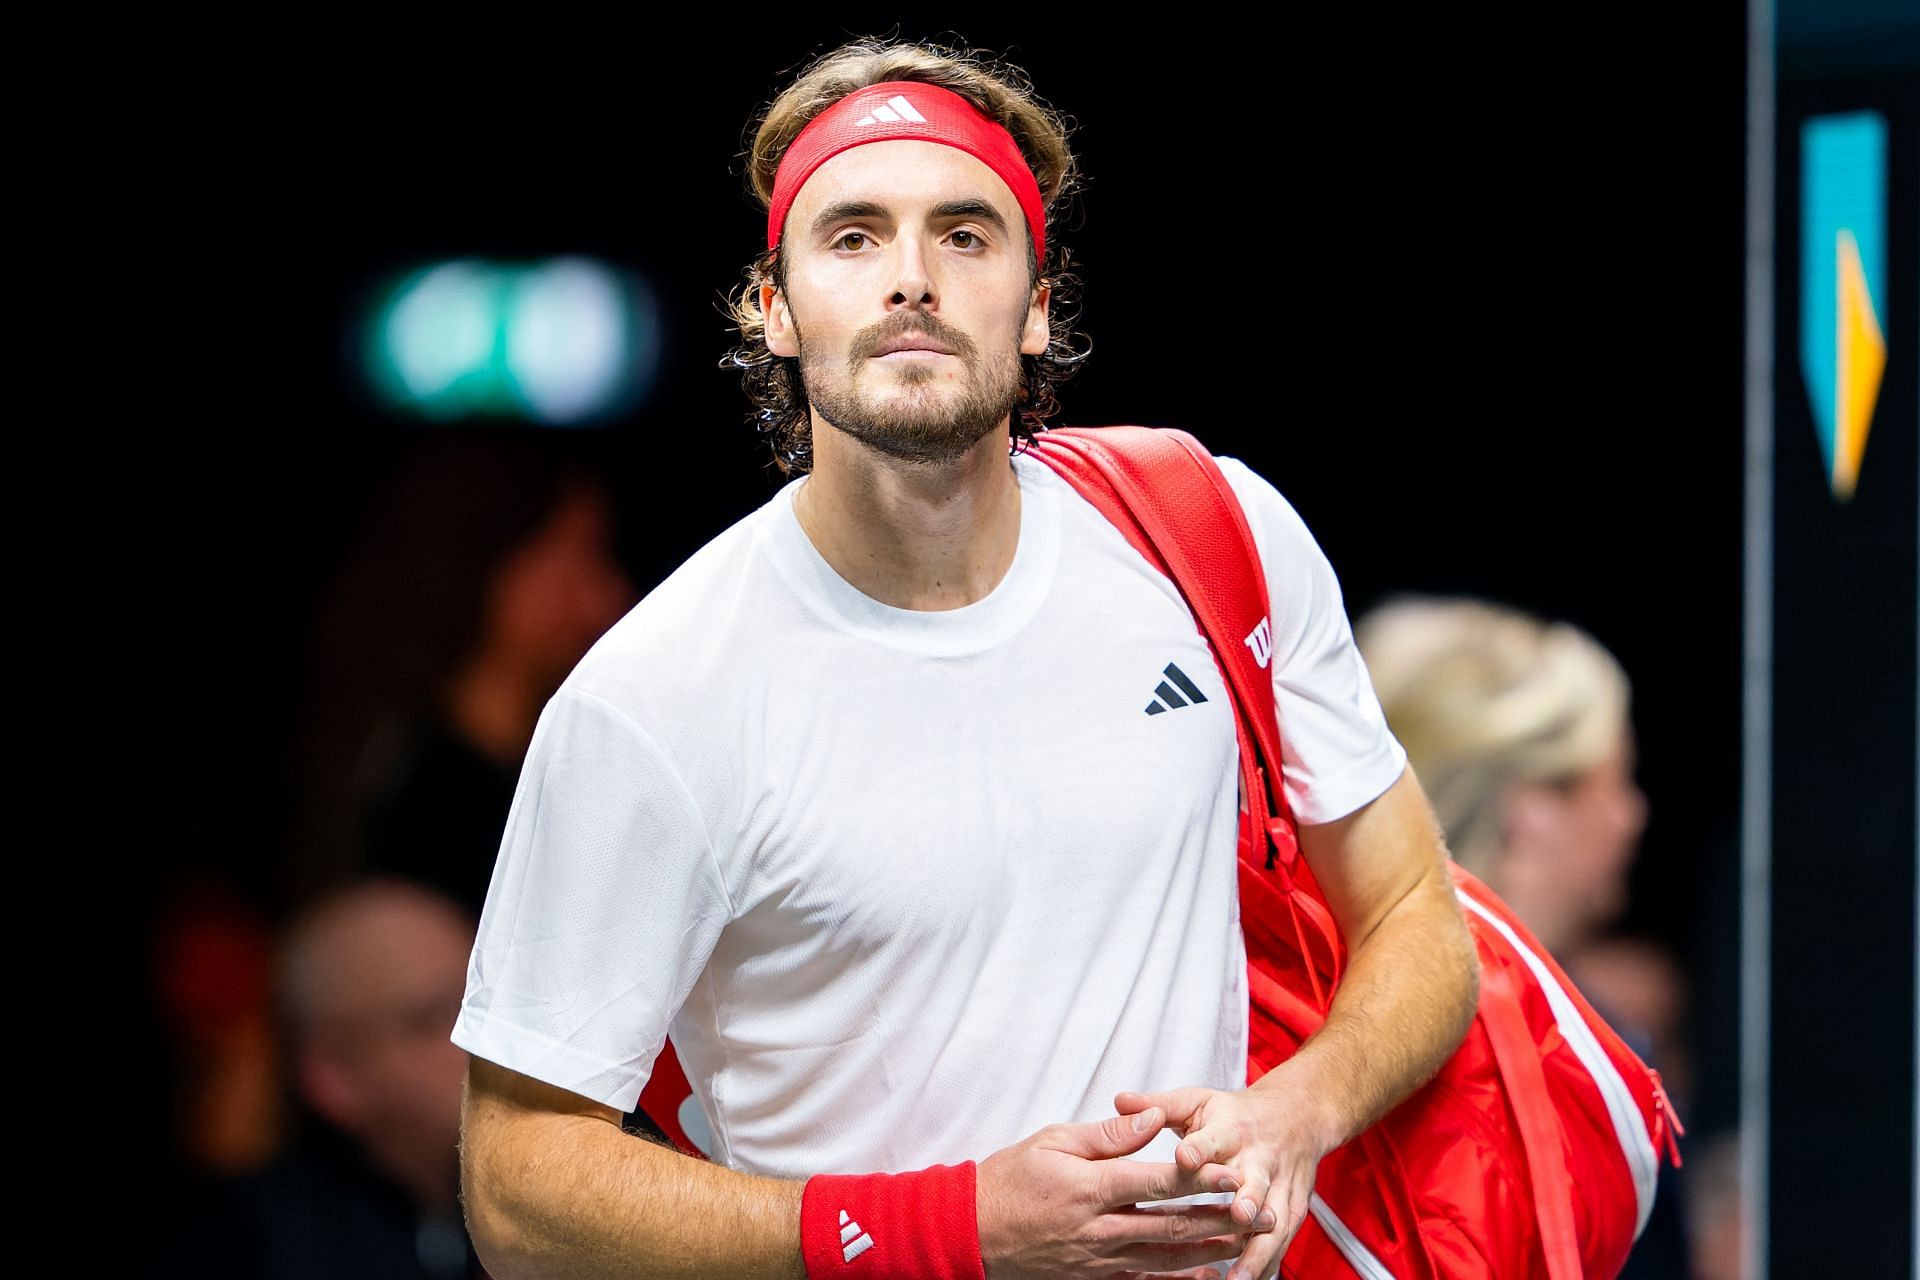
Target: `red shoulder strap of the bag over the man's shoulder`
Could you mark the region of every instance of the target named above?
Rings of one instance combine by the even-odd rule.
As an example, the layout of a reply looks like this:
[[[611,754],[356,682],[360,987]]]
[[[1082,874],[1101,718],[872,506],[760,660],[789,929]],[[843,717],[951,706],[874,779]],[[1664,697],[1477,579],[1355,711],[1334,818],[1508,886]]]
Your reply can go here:
[[[1338,929],[1298,858],[1298,833],[1281,787],[1267,581],[1254,532],[1227,476],[1206,445],[1177,428],[1062,426],[1039,432],[1031,453],[1112,520],[1192,608],[1240,723],[1248,819],[1258,821],[1258,839],[1242,841],[1242,856],[1263,856],[1260,869],[1279,875],[1279,887],[1325,940],[1325,958],[1338,983]],[[1292,892],[1302,883],[1308,892]],[[1325,994],[1315,990],[1315,998],[1325,1009]]]

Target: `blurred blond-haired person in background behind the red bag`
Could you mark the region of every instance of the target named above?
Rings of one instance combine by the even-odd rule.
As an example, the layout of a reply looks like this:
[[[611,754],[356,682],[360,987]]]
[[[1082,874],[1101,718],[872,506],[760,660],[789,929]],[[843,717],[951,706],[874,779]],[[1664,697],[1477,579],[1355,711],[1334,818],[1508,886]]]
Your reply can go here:
[[[1686,981],[1668,952],[1607,936],[1647,823],[1632,689],[1567,622],[1476,599],[1400,595],[1354,626],[1386,723],[1446,831],[1607,1023],[1688,1096]],[[1674,1173],[1622,1276],[1688,1276]]]

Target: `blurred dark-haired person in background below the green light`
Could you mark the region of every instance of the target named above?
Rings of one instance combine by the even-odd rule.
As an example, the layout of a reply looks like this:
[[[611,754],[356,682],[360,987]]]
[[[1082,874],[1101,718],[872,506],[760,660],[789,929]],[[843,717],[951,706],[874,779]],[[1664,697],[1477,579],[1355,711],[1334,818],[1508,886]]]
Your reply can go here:
[[[296,900],[359,869],[474,917],[540,708],[634,603],[612,499],[541,439],[432,439],[323,610]]]

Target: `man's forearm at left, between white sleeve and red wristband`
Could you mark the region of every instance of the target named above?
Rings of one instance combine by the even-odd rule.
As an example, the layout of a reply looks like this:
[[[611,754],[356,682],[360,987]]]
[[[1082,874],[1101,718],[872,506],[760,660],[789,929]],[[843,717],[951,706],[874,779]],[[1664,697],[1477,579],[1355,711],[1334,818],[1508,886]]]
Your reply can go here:
[[[461,1188],[495,1280],[804,1280],[803,1182],[708,1165],[589,1115],[463,1126]]]

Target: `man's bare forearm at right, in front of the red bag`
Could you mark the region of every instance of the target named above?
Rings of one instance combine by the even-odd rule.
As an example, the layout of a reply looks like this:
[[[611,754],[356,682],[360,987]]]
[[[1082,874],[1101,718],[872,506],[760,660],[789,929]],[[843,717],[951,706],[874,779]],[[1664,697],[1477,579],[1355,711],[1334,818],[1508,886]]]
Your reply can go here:
[[[1348,954],[1327,1021],[1254,1088],[1283,1092],[1332,1150],[1371,1128],[1459,1048],[1480,963],[1444,869]]]

